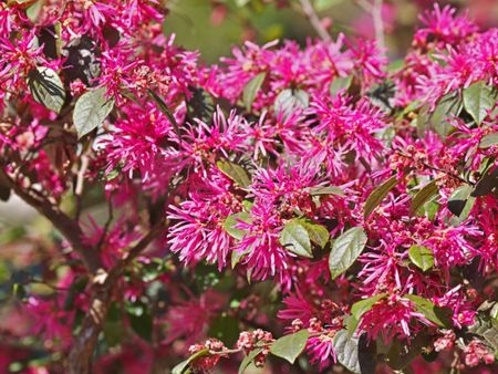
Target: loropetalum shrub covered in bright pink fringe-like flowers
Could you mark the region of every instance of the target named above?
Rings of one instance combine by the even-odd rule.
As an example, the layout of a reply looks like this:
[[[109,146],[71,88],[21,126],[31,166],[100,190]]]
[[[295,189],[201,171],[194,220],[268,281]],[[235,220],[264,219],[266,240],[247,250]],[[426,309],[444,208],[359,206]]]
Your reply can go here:
[[[60,233],[2,366],[496,370],[498,30],[436,6],[396,66],[344,35],[209,66],[165,13],[0,3],[1,195]]]

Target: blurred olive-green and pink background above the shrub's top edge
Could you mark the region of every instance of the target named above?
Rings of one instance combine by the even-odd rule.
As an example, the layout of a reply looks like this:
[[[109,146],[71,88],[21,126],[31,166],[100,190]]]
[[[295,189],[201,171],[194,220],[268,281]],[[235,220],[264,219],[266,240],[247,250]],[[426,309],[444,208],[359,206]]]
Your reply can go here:
[[[333,37],[340,32],[355,37],[373,37],[371,15],[362,1],[310,0]],[[390,55],[398,58],[409,46],[418,14],[434,3],[467,9],[484,27],[498,22],[497,0],[385,0],[382,14]],[[274,39],[293,39],[303,43],[317,33],[304,17],[301,0],[168,0],[170,13],[166,34],[175,33],[176,42],[198,50],[203,61],[217,62],[230,54],[234,45],[245,40],[266,43]]]

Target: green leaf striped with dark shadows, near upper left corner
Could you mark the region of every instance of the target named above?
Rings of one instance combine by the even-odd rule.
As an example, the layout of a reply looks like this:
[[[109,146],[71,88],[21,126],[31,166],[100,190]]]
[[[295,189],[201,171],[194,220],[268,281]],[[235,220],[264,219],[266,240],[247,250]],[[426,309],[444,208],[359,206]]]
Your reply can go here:
[[[58,73],[38,66],[28,74],[28,86],[33,98],[49,110],[59,113],[65,101],[65,90]]]

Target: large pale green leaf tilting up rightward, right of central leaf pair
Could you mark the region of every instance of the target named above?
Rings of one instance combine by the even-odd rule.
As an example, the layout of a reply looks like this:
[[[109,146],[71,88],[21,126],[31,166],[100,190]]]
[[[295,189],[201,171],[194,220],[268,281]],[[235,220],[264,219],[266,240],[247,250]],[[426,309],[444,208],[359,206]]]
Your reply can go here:
[[[333,243],[329,257],[329,269],[332,279],[346,271],[363,251],[366,235],[362,227],[353,227],[341,235]]]

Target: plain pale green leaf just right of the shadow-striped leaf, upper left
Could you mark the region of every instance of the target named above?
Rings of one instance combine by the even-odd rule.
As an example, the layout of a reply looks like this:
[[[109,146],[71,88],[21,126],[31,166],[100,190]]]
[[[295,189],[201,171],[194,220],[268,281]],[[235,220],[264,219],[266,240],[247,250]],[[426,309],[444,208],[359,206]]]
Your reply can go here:
[[[114,106],[114,100],[105,97],[105,87],[84,93],[76,102],[73,122],[81,138],[101,126]]]

